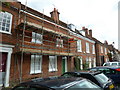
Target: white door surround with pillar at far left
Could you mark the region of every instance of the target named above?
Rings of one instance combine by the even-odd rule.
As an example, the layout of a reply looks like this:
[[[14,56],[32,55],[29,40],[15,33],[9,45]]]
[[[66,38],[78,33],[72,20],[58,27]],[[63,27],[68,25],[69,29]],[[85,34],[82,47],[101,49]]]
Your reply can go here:
[[[0,52],[7,52],[7,62],[6,62],[6,74],[4,80],[4,87],[9,86],[9,77],[10,77],[10,64],[11,64],[11,54],[13,45],[0,44]]]

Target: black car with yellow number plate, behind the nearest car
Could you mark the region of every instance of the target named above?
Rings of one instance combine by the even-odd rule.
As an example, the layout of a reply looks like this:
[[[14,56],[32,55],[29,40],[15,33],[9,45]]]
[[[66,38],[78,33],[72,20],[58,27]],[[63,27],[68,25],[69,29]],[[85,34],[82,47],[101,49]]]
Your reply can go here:
[[[62,77],[83,77],[96,83],[104,90],[116,89],[113,81],[101,72],[65,72]]]

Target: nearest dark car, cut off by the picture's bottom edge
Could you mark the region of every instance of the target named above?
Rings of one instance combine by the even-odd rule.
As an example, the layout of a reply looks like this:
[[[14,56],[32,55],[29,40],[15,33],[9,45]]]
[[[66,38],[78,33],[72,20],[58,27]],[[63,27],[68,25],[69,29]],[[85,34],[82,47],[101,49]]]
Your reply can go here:
[[[21,83],[15,86],[12,90],[102,90],[95,83],[84,78],[47,78],[47,79],[35,79],[32,81]]]

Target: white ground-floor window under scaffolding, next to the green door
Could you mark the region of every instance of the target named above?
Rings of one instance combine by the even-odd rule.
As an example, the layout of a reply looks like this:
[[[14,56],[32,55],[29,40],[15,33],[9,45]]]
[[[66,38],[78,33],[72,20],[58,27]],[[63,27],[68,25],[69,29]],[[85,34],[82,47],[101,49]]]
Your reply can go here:
[[[49,56],[49,72],[58,71],[57,56]]]

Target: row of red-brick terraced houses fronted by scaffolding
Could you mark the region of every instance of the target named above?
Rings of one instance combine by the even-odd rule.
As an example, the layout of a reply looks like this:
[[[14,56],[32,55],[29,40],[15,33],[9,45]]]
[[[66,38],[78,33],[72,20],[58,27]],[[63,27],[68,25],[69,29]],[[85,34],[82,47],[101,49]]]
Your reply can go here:
[[[93,39],[91,30],[83,27],[83,35],[73,29],[59,20],[56,8],[48,17],[20,2],[1,3],[1,86],[95,67],[101,62],[96,56],[98,48],[99,52],[105,50],[101,58],[107,58],[108,49],[100,48],[104,44]]]

